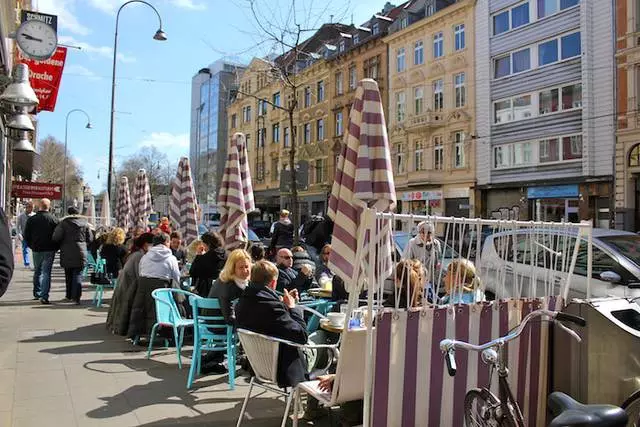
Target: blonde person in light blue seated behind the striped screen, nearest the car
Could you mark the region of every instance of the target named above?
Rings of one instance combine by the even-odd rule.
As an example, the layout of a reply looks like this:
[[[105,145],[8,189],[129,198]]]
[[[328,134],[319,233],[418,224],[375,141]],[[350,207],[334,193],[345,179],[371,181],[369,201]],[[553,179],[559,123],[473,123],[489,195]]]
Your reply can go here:
[[[446,295],[440,304],[460,304],[485,301],[482,283],[476,273],[476,266],[465,258],[451,261],[444,276]]]

